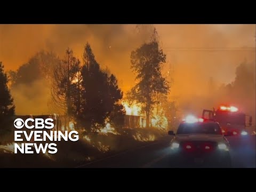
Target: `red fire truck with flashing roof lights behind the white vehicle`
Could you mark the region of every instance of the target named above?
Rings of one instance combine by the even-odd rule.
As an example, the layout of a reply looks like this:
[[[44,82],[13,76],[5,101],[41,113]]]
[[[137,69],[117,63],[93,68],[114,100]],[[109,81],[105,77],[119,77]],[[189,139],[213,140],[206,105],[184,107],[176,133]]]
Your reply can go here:
[[[204,109],[202,118],[217,121],[222,133],[227,136],[247,135],[249,131],[246,127],[252,126],[252,116],[246,115],[234,106],[220,106],[217,110]]]

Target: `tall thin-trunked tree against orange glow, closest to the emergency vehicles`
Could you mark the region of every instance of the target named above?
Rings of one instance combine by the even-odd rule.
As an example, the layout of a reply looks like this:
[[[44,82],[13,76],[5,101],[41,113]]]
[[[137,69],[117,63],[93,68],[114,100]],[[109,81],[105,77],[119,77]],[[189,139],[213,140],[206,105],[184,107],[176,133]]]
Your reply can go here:
[[[165,59],[166,55],[159,48],[156,38],[131,53],[131,68],[137,73],[135,80],[138,83],[132,87],[129,95],[142,103],[142,111],[146,113],[146,127],[150,126],[150,113],[158,102],[159,94],[169,92],[169,85],[161,74],[161,65]]]

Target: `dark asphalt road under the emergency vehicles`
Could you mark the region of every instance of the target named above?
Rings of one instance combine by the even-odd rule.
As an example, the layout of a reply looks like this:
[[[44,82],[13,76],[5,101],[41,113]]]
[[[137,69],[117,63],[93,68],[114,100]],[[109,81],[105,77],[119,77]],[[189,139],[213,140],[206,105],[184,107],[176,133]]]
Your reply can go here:
[[[255,135],[228,137],[232,167],[256,167]],[[111,155],[79,167],[170,167],[170,137]]]

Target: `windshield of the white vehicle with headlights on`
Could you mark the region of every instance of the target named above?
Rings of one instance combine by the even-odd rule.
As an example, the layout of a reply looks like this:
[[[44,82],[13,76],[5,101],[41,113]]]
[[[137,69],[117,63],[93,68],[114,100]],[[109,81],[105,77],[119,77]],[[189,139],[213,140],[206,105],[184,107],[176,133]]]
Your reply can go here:
[[[216,123],[183,123],[180,124],[177,134],[222,134]]]

